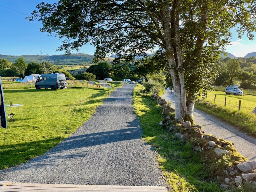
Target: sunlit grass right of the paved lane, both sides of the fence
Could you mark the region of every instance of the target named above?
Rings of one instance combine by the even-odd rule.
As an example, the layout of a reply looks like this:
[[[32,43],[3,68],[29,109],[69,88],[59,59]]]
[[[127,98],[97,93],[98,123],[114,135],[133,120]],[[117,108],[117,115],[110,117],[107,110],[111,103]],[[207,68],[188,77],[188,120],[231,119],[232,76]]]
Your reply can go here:
[[[214,103],[214,97],[216,100]],[[226,99],[226,106],[225,104]],[[256,96],[253,95],[226,95],[222,91],[211,91],[207,93],[207,99],[213,105],[206,105],[204,102],[198,102],[195,107],[207,113],[213,114],[216,117],[235,125],[239,129],[247,132],[252,136],[256,136],[256,115],[252,113],[256,107]],[[241,101],[241,110],[238,110],[239,101]]]

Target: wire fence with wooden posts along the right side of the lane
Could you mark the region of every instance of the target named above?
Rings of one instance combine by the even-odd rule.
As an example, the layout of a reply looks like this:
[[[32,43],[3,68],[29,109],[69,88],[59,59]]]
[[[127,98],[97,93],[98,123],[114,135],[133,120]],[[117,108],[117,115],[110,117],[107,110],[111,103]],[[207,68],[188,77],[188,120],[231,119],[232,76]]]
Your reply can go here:
[[[242,96],[241,96],[242,97]],[[256,100],[248,101],[242,98],[234,98],[222,94],[208,94],[205,101],[210,101],[217,106],[223,106],[231,111],[241,111],[245,113],[252,113],[256,107]]]

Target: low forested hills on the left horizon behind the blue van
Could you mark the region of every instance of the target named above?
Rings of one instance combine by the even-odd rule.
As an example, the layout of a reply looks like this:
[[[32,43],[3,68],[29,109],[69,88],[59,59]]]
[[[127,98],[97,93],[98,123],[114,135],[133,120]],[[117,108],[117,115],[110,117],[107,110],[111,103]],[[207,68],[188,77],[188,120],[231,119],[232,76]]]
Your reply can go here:
[[[23,57],[27,63],[40,61],[39,55],[0,55],[0,59],[8,59],[11,62],[15,62],[18,58]],[[66,55],[51,55],[49,56],[50,63],[55,65],[76,65],[85,62],[92,62],[94,56],[84,53],[75,53]],[[47,55],[43,55],[43,59],[47,61]]]

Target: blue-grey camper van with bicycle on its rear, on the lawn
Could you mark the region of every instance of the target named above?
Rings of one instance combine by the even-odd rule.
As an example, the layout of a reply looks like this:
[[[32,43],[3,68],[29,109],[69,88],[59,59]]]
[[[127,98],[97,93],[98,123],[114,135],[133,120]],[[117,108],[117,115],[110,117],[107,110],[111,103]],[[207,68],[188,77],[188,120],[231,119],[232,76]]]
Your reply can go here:
[[[55,89],[63,89],[64,87],[60,86],[63,84],[63,81],[66,82],[66,77],[63,73],[50,73],[50,74],[42,74],[35,83],[36,89],[40,88],[51,88]],[[65,83],[66,84],[66,83]]]

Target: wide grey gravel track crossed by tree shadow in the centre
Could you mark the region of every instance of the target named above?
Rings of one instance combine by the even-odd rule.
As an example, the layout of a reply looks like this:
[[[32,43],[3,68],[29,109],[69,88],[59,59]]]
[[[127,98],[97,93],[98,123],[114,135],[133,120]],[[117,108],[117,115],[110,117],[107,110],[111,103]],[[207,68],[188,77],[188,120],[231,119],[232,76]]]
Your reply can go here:
[[[156,153],[141,139],[133,108],[135,85],[124,84],[92,117],[48,153],[0,173],[31,183],[164,186]]]

